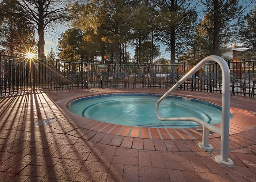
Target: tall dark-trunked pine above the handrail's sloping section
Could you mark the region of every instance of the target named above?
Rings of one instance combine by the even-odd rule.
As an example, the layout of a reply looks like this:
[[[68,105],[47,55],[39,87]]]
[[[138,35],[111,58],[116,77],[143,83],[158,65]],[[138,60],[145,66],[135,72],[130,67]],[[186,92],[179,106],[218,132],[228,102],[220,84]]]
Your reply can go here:
[[[151,0],[155,5],[157,39],[170,50],[171,64],[189,49],[197,4],[193,0]]]

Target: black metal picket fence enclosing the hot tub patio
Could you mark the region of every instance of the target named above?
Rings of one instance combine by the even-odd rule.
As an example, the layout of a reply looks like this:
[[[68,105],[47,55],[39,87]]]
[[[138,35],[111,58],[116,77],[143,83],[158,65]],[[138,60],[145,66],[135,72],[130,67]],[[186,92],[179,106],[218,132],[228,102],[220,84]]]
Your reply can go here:
[[[170,88],[196,64],[117,65],[15,58],[0,54],[0,95],[30,90],[74,88]],[[228,61],[231,90],[255,96],[256,60]],[[222,75],[217,63],[208,63],[178,89],[221,92]]]

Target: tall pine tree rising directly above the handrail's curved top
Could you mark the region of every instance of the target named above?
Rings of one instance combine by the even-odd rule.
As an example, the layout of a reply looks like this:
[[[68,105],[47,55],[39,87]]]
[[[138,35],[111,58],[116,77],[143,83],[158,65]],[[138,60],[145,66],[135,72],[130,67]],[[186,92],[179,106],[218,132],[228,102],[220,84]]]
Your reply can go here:
[[[212,54],[219,55],[225,44],[231,42],[237,33],[234,22],[252,2],[253,0],[248,0],[247,3],[241,0],[202,0],[204,15],[208,17],[210,24],[200,25],[212,35]],[[243,3],[246,5],[242,6]]]

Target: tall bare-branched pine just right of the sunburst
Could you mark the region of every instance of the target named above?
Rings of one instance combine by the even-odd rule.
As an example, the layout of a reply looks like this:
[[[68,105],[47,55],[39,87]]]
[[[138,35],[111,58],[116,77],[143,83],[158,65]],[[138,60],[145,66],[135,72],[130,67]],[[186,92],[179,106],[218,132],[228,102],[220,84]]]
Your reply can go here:
[[[38,33],[38,58],[45,59],[45,32],[69,17],[68,6],[64,0],[12,0],[19,7],[3,9],[3,15],[18,16],[29,22]],[[2,13],[2,12],[1,12]]]

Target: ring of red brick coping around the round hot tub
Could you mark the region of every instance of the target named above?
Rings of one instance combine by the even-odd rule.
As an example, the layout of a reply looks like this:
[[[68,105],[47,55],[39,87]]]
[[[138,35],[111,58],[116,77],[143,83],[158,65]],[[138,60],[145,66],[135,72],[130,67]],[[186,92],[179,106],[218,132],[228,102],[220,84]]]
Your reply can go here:
[[[202,138],[202,133],[199,131],[202,131],[202,127],[192,127],[192,128],[150,128],[150,127],[132,127],[132,126],[123,126],[123,125],[117,125],[117,124],[110,124],[100,121],[95,121],[92,119],[84,118],[83,116],[76,115],[68,110],[68,104],[76,99],[81,99],[83,97],[89,97],[89,96],[98,96],[98,95],[105,95],[105,94],[121,94],[121,93],[135,93],[138,94],[138,91],[110,91],[106,92],[104,94],[102,93],[95,93],[95,94],[89,94],[84,96],[72,96],[72,98],[69,98],[67,101],[58,104],[58,107],[61,107],[62,110],[65,111],[65,115],[60,114],[60,112],[57,112],[55,104],[52,106],[51,110],[52,113],[59,119],[64,120],[66,122],[69,122],[71,124],[75,124],[76,126],[82,127],[87,130],[102,132],[106,134],[113,134],[113,135],[120,135],[124,137],[133,137],[133,138],[145,138],[145,139],[200,139]],[[147,92],[142,91],[143,94],[157,94],[162,95],[157,92]],[[180,96],[184,97],[184,95],[173,93],[173,96]],[[187,96],[187,95],[186,95]],[[185,97],[188,98],[188,97]],[[219,103],[212,102],[207,99],[198,99],[196,96],[189,95],[189,98],[202,100],[204,102],[210,102],[215,105],[220,106]],[[65,107],[65,108],[64,108]],[[55,108],[55,109],[54,109]],[[233,118],[230,120],[230,135],[240,133],[242,131],[248,130],[255,126],[255,120],[256,117],[253,115],[250,111],[244,110],[244,109],[238,109],[234,107],[230,107],[230,111],[233,113]],[[243,119],[243,115],[246,115],[247,121],[241,122],[241,119]],[[70,117],[69,117],[70,116]],[[248,120],[249,119],[249,120]],[[217,126],[218,128],[221,128],[221,123],[214,124],[214,126]],[[197,131],[199,130],[199,131]],[[217,134],[211,134],[210,138],[220,137]]]

